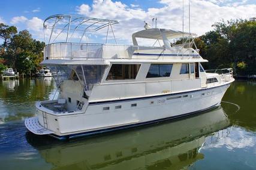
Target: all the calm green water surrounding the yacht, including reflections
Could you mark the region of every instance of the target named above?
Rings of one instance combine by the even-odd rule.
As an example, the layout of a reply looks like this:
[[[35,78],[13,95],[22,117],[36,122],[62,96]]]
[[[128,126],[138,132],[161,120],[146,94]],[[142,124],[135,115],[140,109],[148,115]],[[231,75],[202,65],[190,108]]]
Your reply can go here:
[[[256,82],[200,115],[71,141],[23,125],[54,92],[52,79],[0,82],[0,169],[256,169]]]

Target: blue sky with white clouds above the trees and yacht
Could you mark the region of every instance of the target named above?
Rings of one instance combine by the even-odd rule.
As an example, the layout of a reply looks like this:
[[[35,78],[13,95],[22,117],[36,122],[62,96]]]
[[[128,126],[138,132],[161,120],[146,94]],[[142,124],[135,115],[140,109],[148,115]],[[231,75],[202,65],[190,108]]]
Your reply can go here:
[[[256,17],[256,0],[190,0],[191,32],[197,35],[212,30],[212,24],[222,19],[249,19]],[[131,43],[131,34],[144,29],[144,21],[157,27],[182,30],[182,0],[2,0],[0,23],[27,29],[32,37],[43,41],[43,21],[54,14],[71,14],[86,17],[118,20],[113,26],[116,38]],[[188,31],[188,0],[184,0],[185,31]],[[95,36],[94,38],[97,38]],[[92,38],[93,39],[93,38]]]

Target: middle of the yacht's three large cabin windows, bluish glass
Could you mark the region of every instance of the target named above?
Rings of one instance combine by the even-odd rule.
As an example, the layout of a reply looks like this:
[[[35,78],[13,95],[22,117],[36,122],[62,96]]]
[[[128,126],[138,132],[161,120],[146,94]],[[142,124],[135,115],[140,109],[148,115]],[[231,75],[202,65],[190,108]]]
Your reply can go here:
[[[151,64],[146,78],[170,77],[173,64]]]

